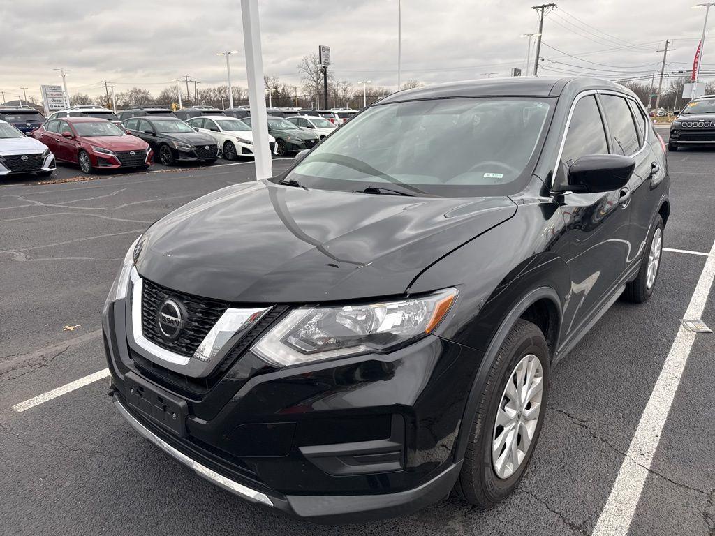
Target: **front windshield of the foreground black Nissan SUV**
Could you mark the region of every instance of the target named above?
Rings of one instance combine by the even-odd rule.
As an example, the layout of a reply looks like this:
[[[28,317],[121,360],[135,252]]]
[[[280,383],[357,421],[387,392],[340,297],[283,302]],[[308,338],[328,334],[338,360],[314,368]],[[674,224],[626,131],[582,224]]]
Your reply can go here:
[[[483,97],[374,106],[283,179],[307,188],[399,189],[449,197],[523,188],[546,133],[550,99]],[[533,164],[532,164],[533,165]]]

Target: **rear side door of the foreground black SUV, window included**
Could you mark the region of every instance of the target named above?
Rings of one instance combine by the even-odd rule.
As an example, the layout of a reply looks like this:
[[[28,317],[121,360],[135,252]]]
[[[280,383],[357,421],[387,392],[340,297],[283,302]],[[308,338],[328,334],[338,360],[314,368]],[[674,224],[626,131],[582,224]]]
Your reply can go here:
[[[608,131],[613,139],[616,154],[625,154],[636,161],[628,190],[631,196],[631,225],[628,242],[631,252],[626,259],[627,269],[637,269],[641,253],[646,247],[651,222],[659,206],[661,192],[655,189],[665,175],[665,162],[659,162],[653,152],[654,140],[650,121],[635,101],[617,94],[602,94],[603,111],[608,122]],[[651,131],[651,132],[649,132]],[[661,169],[662,168],[662,169]]]

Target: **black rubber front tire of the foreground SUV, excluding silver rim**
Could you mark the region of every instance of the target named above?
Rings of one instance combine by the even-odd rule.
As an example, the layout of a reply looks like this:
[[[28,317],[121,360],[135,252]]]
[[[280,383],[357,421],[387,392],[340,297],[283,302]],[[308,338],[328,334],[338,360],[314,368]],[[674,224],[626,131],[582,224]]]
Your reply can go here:
[[[491,452],[497,411],[516,365],[529,354],[533,354],[541,362],[543,371],[541,410],[531,445],[526,450],[521,464],[511,476],[502,479],[495,472]],[[518,485],[531,460],[543,425],[548,403],[549,361],[548,345],[541,329],[526,320],[518,320],[497,353],[473,417],[462,470],[454,487],[455,495],[460,499],[478,507],[488,508],[506,499]],[[519,415],[521,416],[521,412]],[[518,441],[522,441],[521,435],[518,436]]]

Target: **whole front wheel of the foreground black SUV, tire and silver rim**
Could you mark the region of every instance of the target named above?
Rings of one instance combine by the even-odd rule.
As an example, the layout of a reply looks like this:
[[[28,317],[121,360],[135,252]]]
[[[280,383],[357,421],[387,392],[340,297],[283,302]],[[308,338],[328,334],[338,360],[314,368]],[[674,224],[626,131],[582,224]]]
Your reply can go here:
[[[549,370],[541,329],[518,320],[494,359],[473,416],[454,488],[458,497],[487,508],[516,488],[543,425]]]

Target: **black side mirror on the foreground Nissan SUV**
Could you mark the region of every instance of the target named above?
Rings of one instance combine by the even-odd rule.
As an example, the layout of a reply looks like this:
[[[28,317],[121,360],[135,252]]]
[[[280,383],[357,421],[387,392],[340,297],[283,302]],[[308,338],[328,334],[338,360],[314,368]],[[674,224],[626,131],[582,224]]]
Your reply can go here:
[[[589,154],[568,167],[568,190],[577,193],[613,192],[628,184],[636,161],[620,154]]]

